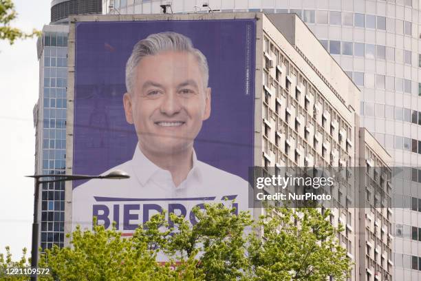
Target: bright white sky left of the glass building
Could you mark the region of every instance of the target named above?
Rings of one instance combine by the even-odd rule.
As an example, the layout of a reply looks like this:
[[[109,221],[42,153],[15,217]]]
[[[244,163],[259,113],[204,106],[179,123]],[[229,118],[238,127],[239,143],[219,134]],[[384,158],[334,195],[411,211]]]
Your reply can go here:
[[[50,0],[14,0],[12,26],[31,32],[50,22]],[[34,214],[35,129],[32,109],[39,96],[36,39],[0,42],[0,253],[10,246],[13,259],[28,249]]]

